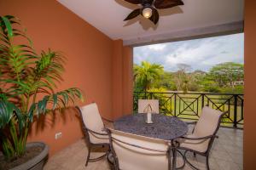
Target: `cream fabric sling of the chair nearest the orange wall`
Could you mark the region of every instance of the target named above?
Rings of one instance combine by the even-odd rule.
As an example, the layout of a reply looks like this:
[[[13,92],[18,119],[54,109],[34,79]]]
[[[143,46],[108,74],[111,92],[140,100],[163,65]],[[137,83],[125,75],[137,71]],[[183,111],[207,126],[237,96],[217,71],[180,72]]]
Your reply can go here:
[[[102,122],[102,116],[99,113],[96,103],[84,105],[83,107],[79,108],[79,111],[83,118],[85,128],[95,131],[96,133],[102,133],[104,123]],[[97,135],[87,130],[86,133],[86,135],[89,135],[90,143],[93,144],[102,143],[102,139],[106,139],[106,137],[102,137],[102,135]]]

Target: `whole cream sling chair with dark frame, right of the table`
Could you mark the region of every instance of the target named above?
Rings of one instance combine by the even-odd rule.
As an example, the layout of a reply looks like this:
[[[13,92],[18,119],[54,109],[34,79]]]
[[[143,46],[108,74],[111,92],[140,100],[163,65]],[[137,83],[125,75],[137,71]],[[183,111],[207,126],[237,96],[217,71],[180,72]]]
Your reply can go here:
[[[226,112],[214,110],[208,106],[202,109],[201,116],[198,122],[195,122],[192,134],[182,137],[177,140],[179,150],[185,150],[183,158],[191,167],[198,169],[188,161],[186,154],[188,151],[207,158],[207,169],[209,170],[209,154],[212,148],[212,143],[215,138],[218,138],[217,133],[220,127],[221,119]],[[191,123],[189,123],[191,124]]]

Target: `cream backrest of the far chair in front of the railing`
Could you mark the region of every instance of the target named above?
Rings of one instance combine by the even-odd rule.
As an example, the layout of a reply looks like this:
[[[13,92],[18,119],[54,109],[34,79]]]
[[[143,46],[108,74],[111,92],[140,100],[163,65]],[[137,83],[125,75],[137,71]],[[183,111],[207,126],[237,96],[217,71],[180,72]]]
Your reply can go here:
[[[138,99],[138,113],[147,113],[148,106],[152,109],[152,113],[159,113],[158,99]]]

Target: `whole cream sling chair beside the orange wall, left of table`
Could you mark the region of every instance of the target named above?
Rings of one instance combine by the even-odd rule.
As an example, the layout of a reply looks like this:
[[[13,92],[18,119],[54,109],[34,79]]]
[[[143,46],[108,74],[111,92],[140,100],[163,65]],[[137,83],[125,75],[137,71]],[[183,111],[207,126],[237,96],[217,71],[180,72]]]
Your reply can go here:
[[[108,156],[110,150],[109,138],[96,103],[84,105],[83,107],[76,106],[76,108],[82,118],[85,142],[88,146],[88,155],[85,162],[85,166],[87,166],[90,161],[99,161]],[[102,156],[90,158],[90,152],[93,148],[107,148],[108,150]]]

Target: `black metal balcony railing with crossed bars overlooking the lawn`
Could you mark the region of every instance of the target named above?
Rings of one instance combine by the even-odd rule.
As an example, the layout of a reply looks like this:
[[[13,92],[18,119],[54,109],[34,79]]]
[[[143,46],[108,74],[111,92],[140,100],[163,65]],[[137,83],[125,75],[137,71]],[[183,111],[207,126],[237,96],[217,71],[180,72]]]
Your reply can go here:
[[[134,112],[137,112],[138,99],[159,99],[160,113],[189,120],[198,120],[203,106],[209,105],[213,109],[227,111],[222,126],[243,127],[243,94],[134,92]]]

